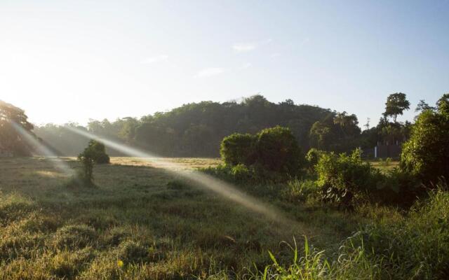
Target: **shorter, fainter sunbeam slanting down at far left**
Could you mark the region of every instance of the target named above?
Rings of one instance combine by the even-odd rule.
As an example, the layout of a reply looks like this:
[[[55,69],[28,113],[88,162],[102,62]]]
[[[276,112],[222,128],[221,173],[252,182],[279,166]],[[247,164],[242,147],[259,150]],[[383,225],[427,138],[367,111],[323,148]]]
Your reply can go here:
[[[43,144],[39,143],[39,141],[32,135],[31,133],[27,132],[21,125],[18,125],[15,122],[11,122],[14,129],[24,137],[24,139],[37,149],[39,155],[44,155],[46,158],[50,159],[53,165],[56,169],[59,169],[60,171],[67,174],[67,176],[74,175],[74,170],[67,165],[67,162],[64,162],[60,158],[58,158],[58,155],[55,155],[49,148],[44,146]]]

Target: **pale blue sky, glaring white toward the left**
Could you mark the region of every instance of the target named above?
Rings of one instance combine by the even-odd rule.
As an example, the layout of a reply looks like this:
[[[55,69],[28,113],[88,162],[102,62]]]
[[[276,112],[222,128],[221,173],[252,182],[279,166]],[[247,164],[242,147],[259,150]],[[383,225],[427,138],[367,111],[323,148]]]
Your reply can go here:
[[[34,124],[260,93],[355,113],[449,92],[449,1],[0,0],[0,99]]]

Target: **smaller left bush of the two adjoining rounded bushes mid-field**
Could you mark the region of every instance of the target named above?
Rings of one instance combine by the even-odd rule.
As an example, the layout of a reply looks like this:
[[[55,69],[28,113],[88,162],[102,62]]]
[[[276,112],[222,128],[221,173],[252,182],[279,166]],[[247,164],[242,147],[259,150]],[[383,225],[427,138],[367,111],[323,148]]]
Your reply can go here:
[[[220,145],[220,155],[227,165],[253,165],[255,163],[256,137],[234,133],[225,137]]]

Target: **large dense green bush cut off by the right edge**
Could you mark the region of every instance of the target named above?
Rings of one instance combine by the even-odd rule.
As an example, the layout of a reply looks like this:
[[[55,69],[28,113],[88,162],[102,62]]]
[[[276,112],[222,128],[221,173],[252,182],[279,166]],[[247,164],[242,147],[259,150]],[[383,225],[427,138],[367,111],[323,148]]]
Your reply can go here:
[[[401,155],[402,169],[424,181],[449,178],[449,94],[437,106],[437,111],[425,110],[418,116]]]

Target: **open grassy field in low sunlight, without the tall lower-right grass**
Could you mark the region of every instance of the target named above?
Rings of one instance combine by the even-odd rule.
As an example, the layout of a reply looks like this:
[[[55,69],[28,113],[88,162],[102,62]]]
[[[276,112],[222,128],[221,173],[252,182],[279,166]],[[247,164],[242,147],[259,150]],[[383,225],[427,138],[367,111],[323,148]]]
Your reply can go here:
[[[73,158],[62,160],[78,168]],[[172,160],[186,169],[219,163]],[[272,194],[281,187],[264,186],[259,199],[296,222],[279,225],[138,158],[96,166],[96,188],[68,188],[67,181],[46,158],[0,159],[0,279],[243,274],[272,263],[268,251],[290,258],[280,242],[293,237],[307,235],[314,246],[335,251],[361,222],[354,214],[279,201]]]

